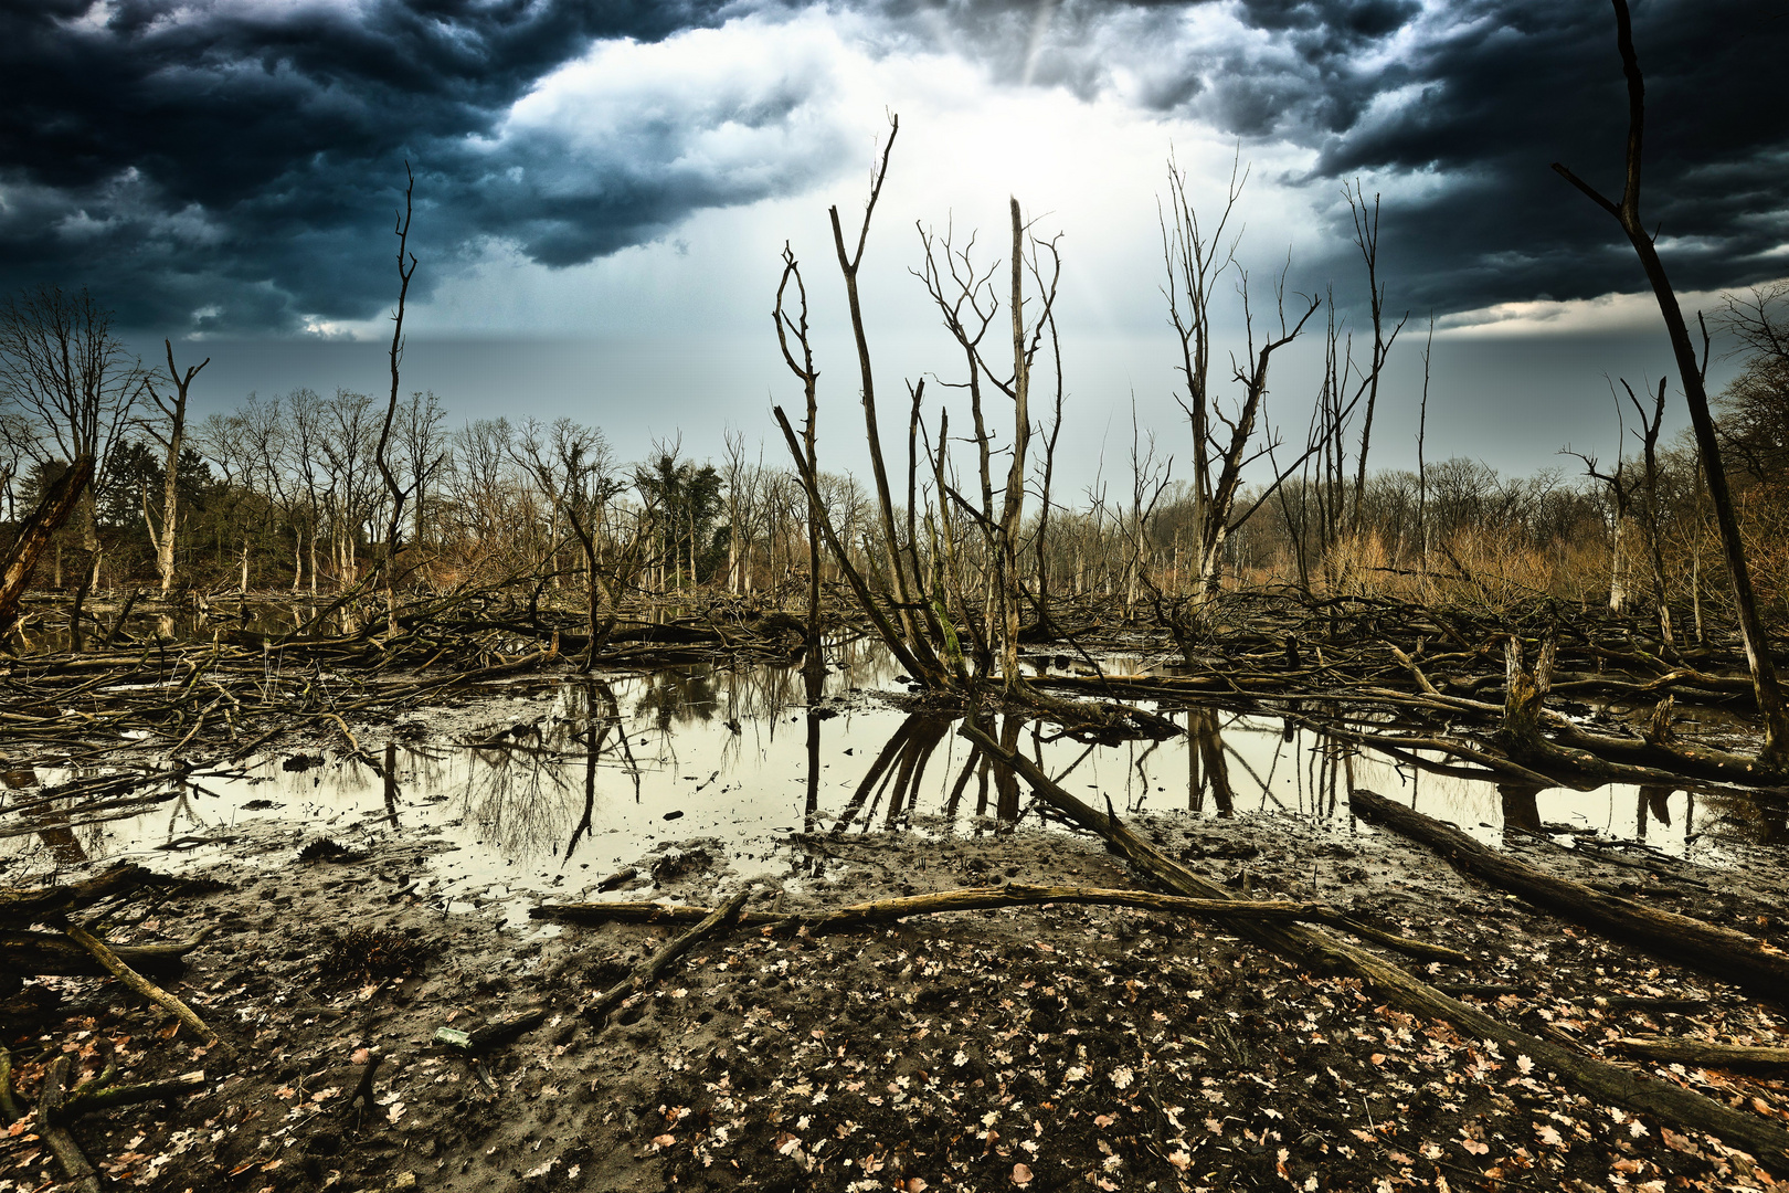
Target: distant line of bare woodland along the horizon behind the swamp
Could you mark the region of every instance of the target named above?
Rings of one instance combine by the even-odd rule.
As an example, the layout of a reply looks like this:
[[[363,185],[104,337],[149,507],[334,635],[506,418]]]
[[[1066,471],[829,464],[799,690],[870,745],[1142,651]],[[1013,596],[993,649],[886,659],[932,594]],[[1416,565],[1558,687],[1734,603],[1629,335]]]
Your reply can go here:
[[[1789,286],[1732,297],[1725,324],[1741,354],[1717,399],[1730,485],[1760,599],[1773,619],[1789,619]],[[91,453],[98,465],[81,513],[39,565],[39,587],[159,580],[174,413],[154,395],[181,381],[168,356],[159,376],[131,360],[86,293],[43,288],[0,308],[0,535],[70,458]],[[1261,499],[1218,544],[1222,587],[1664,606],[1680,631],[1696,633],[1726,610],[1700,460],[1687,438],[1648,447],[1651,411],[1632,404],[1637,417],[1612,420],[1615,463],[1580,454],[1583,467],[1526,478],[1467,458],[1351,474],[1326,470],[1313,453],[1272,492],[1240,488],[1238,506]],[[372,458],[381,413],[367,393],[299,388],[250,393],[184,427],[175,583],[304,594],[358,583],[390,513]],[[1143,429],[1131,456],[1122,479],[1052,501],[1047,538],[1030,515],[1018,537],[1022,571],[1045,569],[1059,596],[1111,597],[1120,615],[1149,615],[1152,601],[1199,587],[1209,506],[1191,481],[1168,481],[1172,465]],[[633,542],[632,583],[648,592],[751,594],[807,576],[801,481],[739,431],[726,435],[719,463],[689,458],[676,440],[623,463],[599,427],[479,419],[451,429],[444,402],[417,392],[399,404],[390,460],[413,494],[406,547],[420,553],[420,583],[542,576],[562,592],[587,583],[592,558],[601,571]],[[886,556],[873,499],[852,476],[818,479],[850,558],[873,572]],[[574,524],[587,526],[589,553]],[[957,549],[973,563],[977,537],[959,533]],[[823,574],[835,578],[828,563]]]

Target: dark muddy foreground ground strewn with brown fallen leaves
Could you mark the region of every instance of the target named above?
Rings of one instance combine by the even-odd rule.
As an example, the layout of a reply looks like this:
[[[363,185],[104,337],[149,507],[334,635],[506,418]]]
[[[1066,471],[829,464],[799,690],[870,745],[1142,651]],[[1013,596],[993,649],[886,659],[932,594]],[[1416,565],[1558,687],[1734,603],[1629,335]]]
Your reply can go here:
[[[1256,898],[1308,898],[1315,882],[1365,919],[1467,950],[1471,966],[1404,964],[1474,986],[1506,1020],[1592,1052],[1646,1030],[1739,1043],[1778,1043],[1785,1030],[1775,1007],[1569,930],[1381,833],[1283,816],[1138,823]],[[1061,833],[855,835],[787,850],[785,907],[1004,878],[1132,884],[1098,842]],[[1605,866],[1556,846],[1524,855],[1680,910],[1725,909],[1780,939],[1773,851],[1741,850],[1732,871]],[[624,898],[716,903],[737,889],[703,850],[685,857],[696,864],[658,866],[664,885]],[[1657,873],[1671,866],[1682,876]],[[377,851],[276,876],[218,867],[213,889],[114,928],[113,939],[159,939],[216,926],[170,987],[234,1045],[234,1064],[109,982],[27,982],[0,1011],[21,1096],[59,1052],[84,1073],[113,1057],[127,1080],[206,1070],[193,1096],[73,1127],[109,1186],[168,1193],[1773,1184],[1716,1139],[1589,1102],[1528,1057],[1390,1011],[1354,982],[1302,973],[1209,923],[1027,907],[814,939],[733,930],[598,1030],[578,1003],[673,930],[444,918],[413,894],[394,900],[386,869]],[[1771,891],[1771,903],[1741,887]],[[401,980],[326,977],[327,930],[345,923],[397,932],[426,959]],[[531,1007],[546,1007],[546,1021],[476,1064],[435,1043],[440,1027]],[[372,1105],[347,1105],[374,1057]],[[1780,1082],[1644,1068],[1789,1116]],[[0,1193],[59,1175],[34,1120],[14,1123]]]

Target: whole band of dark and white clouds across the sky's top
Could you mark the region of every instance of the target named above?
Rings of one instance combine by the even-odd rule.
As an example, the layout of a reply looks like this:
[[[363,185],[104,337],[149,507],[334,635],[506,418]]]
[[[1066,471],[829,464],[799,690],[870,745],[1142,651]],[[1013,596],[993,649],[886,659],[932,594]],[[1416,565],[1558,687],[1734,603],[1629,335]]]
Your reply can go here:
[[[1644,211],[1685,288],[1782,274],[1789,106],[1744,0],[1651,0]],[[1547,170],[1619,177],[1610,13],[1555,0],[38,0],[0,7],[0,288],[89,284],[125,324],[342,326],[392,293],[417,168],[419,299],[494,250],[547,268],[861,166],[839,72],[955,61],[1301,161],[1261,188],[1327,227],[1385,195],[1392,304],[1641,286]],[[975,120],[975,113],[961,113]],[[1073,156],[1073,147],[1064,148]],[[950,195],[943,204],[954,202]],[[1272,202],[1279,202],[1277,199]]]

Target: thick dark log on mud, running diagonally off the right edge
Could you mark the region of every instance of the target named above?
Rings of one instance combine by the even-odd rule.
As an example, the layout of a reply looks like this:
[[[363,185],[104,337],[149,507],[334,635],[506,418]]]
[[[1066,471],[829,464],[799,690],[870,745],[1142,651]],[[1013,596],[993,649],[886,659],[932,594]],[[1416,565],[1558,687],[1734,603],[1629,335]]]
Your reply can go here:
[[[1481,878],[1499,891],[1519,894],[1564,919],[1628,941],[1657,957],[1692,966],[1723,982],[1744,986],[1771,1002],[1782,1002],[1784,991],[1789,991],[1789,953],[1757,937],[1547,875],[1372,791],[1354,789],[1349,800],[1361,819],[1426,844],[1454,869]]]

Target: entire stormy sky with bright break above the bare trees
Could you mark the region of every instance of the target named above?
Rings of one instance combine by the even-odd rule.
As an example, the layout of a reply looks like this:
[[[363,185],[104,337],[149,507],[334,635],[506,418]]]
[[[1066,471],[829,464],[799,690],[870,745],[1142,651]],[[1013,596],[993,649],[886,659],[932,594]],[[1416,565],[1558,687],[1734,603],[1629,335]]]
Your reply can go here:
[[[1689,309],[1789,275],[1789,11],[1642,0],[1642,213]],[[1161,295],[1172,159],[1234,229],[1254,318],[1272,281],[1367,293],[1344,184],[1381,199],[1394,345],[1374,463],[1506,472],[1614,454],[1610,385],[1669,351],[1614,222],[1551,170],[1617,190],[1614,16],[1596,0],[0,0],[0,288],[88,286],[148,360],[245,393],[379,393],[394,220],[415,173],[404,390],[460,422],[574,417],[624,458],[739,429],[780,461],[800,386],[769,309],[787,243],[814,308],[823,463],[861,469],[857,361],[827,209],[862,216],[887,424],[961,356],[911,270],[920,227],[1005,250],[1007,197],[1061,234],[1072,485],[1111,481],[1132,411],[1186,458]],[[1220,286],[1220,381],[1245,351]],[[1320,342],[1276,365],[1302,440]],[[1717,360],[1719,385],[1734,361]],[[1673,404],[1673,426],[1687,419]],[[959,422],[961,426],[961,422]]]

